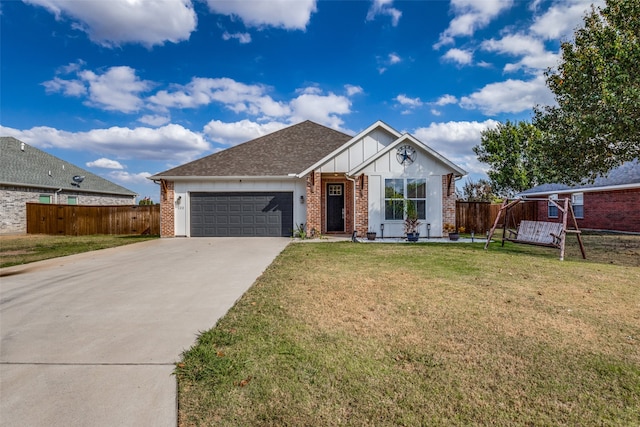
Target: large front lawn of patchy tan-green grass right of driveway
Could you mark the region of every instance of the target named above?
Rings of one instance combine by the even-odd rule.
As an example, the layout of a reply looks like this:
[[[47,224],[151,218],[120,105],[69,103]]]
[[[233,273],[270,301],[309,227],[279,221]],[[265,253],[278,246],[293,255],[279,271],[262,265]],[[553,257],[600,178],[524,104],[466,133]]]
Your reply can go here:
[[[640,236],[605,237],[291,244],[177,364],[179,424],[638,425]]]

